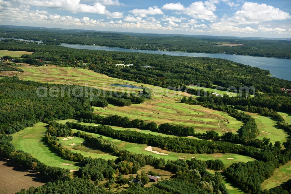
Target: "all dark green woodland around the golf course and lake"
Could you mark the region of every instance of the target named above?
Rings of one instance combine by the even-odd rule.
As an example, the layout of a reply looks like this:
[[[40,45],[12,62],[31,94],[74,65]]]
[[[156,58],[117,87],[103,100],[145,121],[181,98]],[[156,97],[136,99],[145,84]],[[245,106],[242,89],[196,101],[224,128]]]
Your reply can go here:
[[[1,27],[4,28],[4,27]],[[19,193],[62,193],[60,188],[66,188],[64,193],[113,193],[113,185],[121,186],[128,184],[129,187],[121,191],[122,194],[133,193],[228,193],[222,183],[221,173],[246,193],[290,193],[291,180],[272,188],[269,191],[262,191],[261,184],[274,173],[275,168],[285,165],[291,160],[291,139],[287,142],[270,143],[267,138],[256,140],[259,133],[255,120],[247,114],[238,110],[255,112],[272,117],[276,120],[277,126],[291,133],[291,125],[286,123],[276,111],[290,113],[291,94],[284,93],[280,87],[291,88],[291,81],[280,80],[269,77],[269,72],[259,68],[253,68],[232,61],[223,59],[211,59],[203,57],[172,57],[156,54],[124,53],[124,52],[103,52],[93,50],[77,50],[62,47],[60,43],[79,44],[103,44],[107,46],[118,46],[126,48],[140,48],[175,51],[195,52],[235,52],[239,54],[251,54],[256,56],[271,56],[290,58],[289,41],[258,41],[239,40],[236,43],[246,44],[238,47],[211,46],[219,43],[229,43],[232,39],[226,38],[207,40],[195,37],[171,37],[162,35],[141,35],[132,34],[133,41],[125,41],[123,33],[100,33],[93,31],[55,31],[29,29],[23,33],[23,29],[5,29],[7,37],[24,38],[30,40],[44,40],[46,43],[25,42],[6,39],[0,41],[0,50],[30,51],[32,55],[23,55],[15,58],[14,62],[29,63],[34,66],[54,64],[57,66],[72,66],[78,68],[89,68],[95,72],[117,77],[124,80],[132,80],[139,83],[147,83],[161,87],[176,87],[174,90],[188,92],[197,95],[196,89],[187,88],[188,84],[200,83],[201,86],[221,86],[222,90],[234,86],[253,86],[257,92],[255,97],[245,93],[239,97],[222,97],[202,95],[200,97],[182,98],[182,103],[202,105],[214,110],[224,111],[230,116],[242,121],[238,133],[225,133],[222,136],[214,131],[197,134],[212,139],[197,140],[185,137],[162,137],[152,134],[140,133],[131,130],[116,130],[106,125],[137,127],[170,133],[180,136],[196,135],[194,128],[171,125],[168,123],[157,125],[155,122],[146,123],[141,119],[129,120],[127,117],[100,116],[93,114],[92,106],[107,107],[108,104],[115,106],[130,106],[132,103],[143,103],[151,96],[144,88],[141,96],[125,94],[121,98],[112,96],[109,91],[101,91],[104,95],[95,97],[97,89],[92,89],[93,95],[88,92],[91,88],[80,87],[78,97],[73,94],[71,87],[74,85],[64,84],[43,84],[33,81],[22,81],[17,76],[6,77],[0,80],[0,158],[8,158],[9,161],[20,165],[27,170],[39,172],[47,177],[48,184]],[[25,30],[24,30],[25,31]],[[1,35],[1,34],[0,34]],[[22,35],[22,36],[20,36]],[[3,35],[2,35],[3,36]],[[49,38],[45,38],[49,37]],[[98,38],[97,38],[98,37]],[[145,43],[152,41],[151,38],[159,37],[156,44]],[[56,39],[56,40],[53,40]],[[186,41],[189,43],[185,43]],[[92,41],[96,40],[96,42]],[[110,43],[108,41],[110,40]],[[169,40],[172,40],[171,42]],[[101,43],[102,42],[102,43]],[[183,45],[182,45],[183,44]],[[189,45],[194,45],[190,47]],[[276,46],[282,48],[278,50]],[[195,50],[199,46],[200,50]],[[273,47],[273,46],[274,47]],[[252,47],[252,48],[250,48]],[[268,49],[266,49],[268,47]],[[244,50],[242,51],[242,48]],[[186,50],[184,50],[186,49]],[[189,49],[189,50],[187,50]],[[217,50],[215,50],[217,49]],[[207,51],[205,51],[207,50]],[[241,50],[241,51],[239,51]],[[63,52],[63,58],[62,58]],[[271,54],[272,53],[272,54]],[[121,68],[116,64],[134,64],[134,67]],[[143,68],[149,65],[154,68]],[[17,70],[11,66],[1,65],[2,71]],[[47,90],[65,87],[64,95],[43,96],[36,95],[37,88],[42,87],[40,96],[45,95]],[[264,93],[262,93],[264,92]],[[203,93],[203,92],[202,92]],[[54,120],[79,118],[85,122],[101,124],[99,126],[84,126],[79,123],[58,124]],[[11,144],[13,134],[37,122],[48,124],[45,141],[51,151],[56,155],[70,161],[78,162],[79,170],[72,178],[68,170],[47,166],[32,155],[21,150],[15,150]],[[73,133],[72,128],[78,130]],[[233,163],[225,167],[220,160],[201,161],[192,158],[191,160],[165,161],[163,158],[155,158],[143,154],[133,154],[129,151],[119,149],[114,143],[104,140],[101,137],[92,137],[84,132],[96,133],[108,136],[117,140],[146,144],[176,153],[233,153],[250,156],[255,161],[248,163]],[[6,134],[6,135],[5,135]],[[82,154],[73,153],[58,143],[58,137],[75,136],[83,138],[86,146],[92,149],[99,149],[105,153],[112,154],[115,160],[102,158],[84,157]],[[283,146],[281,145],[283,143]],[[84,146],[85,146],[84,145]],[[167,170],[175,175],[171,180],[159,181],[150,187],[143,187],[148,184],[148,177],[145,171],[138,171],[149,165],[157,169]],[[211,174],[206,169],[216,170]],[[218,172],[219,171],[219,172]],[[130,174],[130,178],[124,175]],[[141,184],[131,184],[133,175],[141,181]],[[105,182],[104,184],[100,181]]]

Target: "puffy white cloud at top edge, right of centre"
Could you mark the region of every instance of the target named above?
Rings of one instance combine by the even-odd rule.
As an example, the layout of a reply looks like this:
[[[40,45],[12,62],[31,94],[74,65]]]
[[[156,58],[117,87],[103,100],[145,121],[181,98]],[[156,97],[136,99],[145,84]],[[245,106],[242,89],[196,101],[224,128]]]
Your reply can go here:
[[[209,20],[210,22],[214,22],[217,19],[217,15],[214,13],[214,11],[216,11],[216,3],[219,3],[219,1],[196,1],[189,7],[185,8],[183,13],[193,17],[194,19]]]

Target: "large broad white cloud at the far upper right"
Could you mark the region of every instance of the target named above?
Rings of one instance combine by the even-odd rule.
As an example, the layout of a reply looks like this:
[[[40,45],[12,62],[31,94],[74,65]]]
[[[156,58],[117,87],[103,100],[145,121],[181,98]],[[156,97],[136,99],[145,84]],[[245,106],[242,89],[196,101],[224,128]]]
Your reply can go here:
[[[242,10],[238,10],[229,20],[239,24],[257,24],[260,22],[287,19],[291,19],[290,14],[281,11],[279,8],[268,6],[265,3],[245,2],[242,5]]]

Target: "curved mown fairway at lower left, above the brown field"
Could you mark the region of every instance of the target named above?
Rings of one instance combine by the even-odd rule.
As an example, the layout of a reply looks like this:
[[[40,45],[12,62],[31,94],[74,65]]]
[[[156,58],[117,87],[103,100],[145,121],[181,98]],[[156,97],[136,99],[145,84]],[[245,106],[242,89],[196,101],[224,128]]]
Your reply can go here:
[[[27,127],[24,130],[14,133],[12,135],[12,144],[15,146],[16,150],[23,150],[46,165],[62,167],[70,170],[78,169],[79,167],[75,165],[75,162],[57,156],[46,146],[46,126],[47,124],[45,123],[37,123],[33,127]]]

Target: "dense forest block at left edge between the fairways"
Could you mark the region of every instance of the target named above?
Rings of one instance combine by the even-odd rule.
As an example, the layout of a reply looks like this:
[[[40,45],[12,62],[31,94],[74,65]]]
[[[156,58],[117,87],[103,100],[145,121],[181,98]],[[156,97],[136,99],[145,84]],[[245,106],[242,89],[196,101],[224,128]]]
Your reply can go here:
[[[39,91],[40,96],[36,95],[39,87],[43,88]],[[22,81],[17,76],[1,79],[0,133],[12,134],[40,121],[72,118],[80,111],[93,111],[92,106],[106,107],[108,103],[129,106],[131,102],[142,103],[145,100],[143,95],[138,97],[133,94],[111,97],[109,91],[83,86],[73,93],[73,87],[75,85]],[[62,88],[63,95],[61,92],[54,94],[54,89],[61,91]],[[48,92],[53,95],[48,95]],[[99,92],[102,93],[100,98],[95,97]]]

